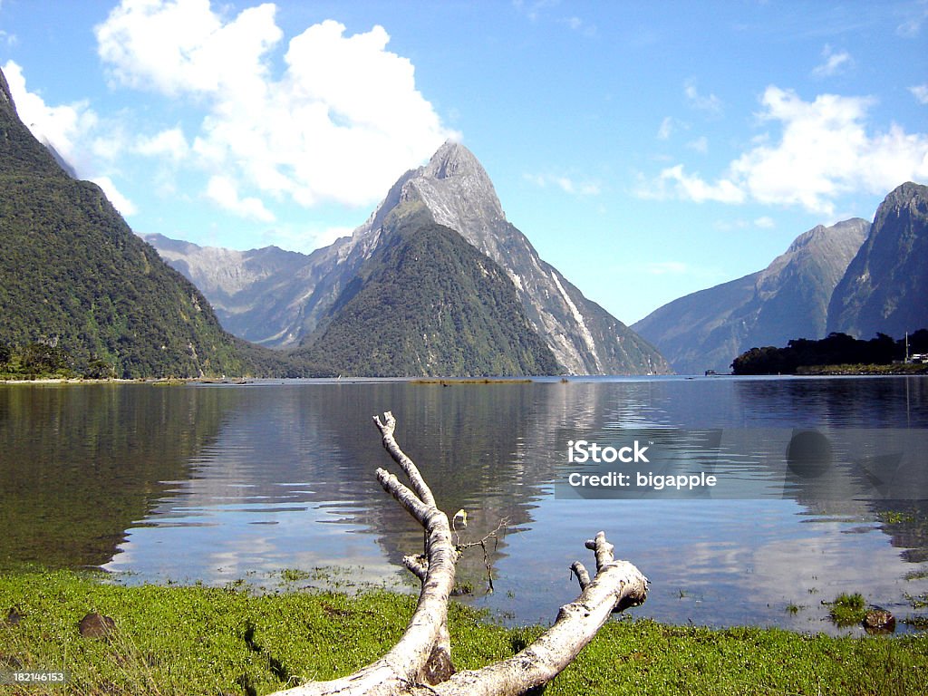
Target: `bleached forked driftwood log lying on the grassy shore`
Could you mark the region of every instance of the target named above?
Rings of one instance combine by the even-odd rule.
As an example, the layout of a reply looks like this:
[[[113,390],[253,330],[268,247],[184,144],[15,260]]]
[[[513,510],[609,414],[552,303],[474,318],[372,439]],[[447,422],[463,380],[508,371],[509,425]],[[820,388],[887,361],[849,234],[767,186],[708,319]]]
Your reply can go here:
[[[596,574],[591,579],[584,565],[574,562],[571,570],[580,583],[580,596],[561,607],[548,631],[508,660],[456,672],[447,609],[455,584],[458,548],[447,515],[435,505],[432,489],[393,438],[393,414],[388,411],[382,420],[375,416],[374,422],[384,448],[403,470],[407,483],[383,469],[377,470],[377,480],[425,530],[425,553],[403,559],[406,568],[422,582],[416,612],[403,638],[380,660],[348,677],[307,682],[272,696],[515,696],[556,677],[612,612],[637,606],[647,597],[648,579],[631,563],[616,561],[612,544],[599,532],[586,542],[586,548],[595,553]]]

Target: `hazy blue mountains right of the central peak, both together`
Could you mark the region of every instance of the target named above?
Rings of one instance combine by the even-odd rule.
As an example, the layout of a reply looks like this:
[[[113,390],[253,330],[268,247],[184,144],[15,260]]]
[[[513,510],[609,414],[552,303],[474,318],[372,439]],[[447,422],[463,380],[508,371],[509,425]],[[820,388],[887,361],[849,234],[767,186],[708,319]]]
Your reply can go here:
[[[700,290],[633,325],[677,372],[728,372],[741,353],[831,332],[896,338],[928,327],[928,187],[800,235],[766,269]]]

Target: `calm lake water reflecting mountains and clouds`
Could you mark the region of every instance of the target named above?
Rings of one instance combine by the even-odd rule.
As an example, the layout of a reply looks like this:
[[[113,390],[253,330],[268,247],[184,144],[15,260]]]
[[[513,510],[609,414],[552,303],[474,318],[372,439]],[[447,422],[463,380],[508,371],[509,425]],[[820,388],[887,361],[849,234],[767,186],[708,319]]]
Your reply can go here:
[[[387,409],[439,505],[468,511],[463,541],[508,520],[496,591],[479,549],[458,570],[505,621],[551,621],[600,529],[651,579],[632,613],[666,622],[831,631],[821,601],[840,592],[900,617],[928,592],[925,378],[0,386],[0,565],[211,584],[351,567],[411,588],[421,531],[373,476]],[[790,454],[803,431],[824,469]],[[718,484],[571,495],[571,472],[595,472],[568,461],[580,439],[651,443],[654,471]]]

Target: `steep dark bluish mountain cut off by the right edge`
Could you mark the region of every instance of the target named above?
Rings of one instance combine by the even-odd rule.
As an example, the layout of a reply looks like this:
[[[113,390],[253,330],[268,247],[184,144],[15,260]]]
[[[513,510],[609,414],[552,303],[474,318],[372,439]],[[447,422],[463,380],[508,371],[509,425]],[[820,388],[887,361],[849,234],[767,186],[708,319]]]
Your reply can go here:
[[[857,338],[928,327],[928,187],[892,191],[834,289],[828,330]]]

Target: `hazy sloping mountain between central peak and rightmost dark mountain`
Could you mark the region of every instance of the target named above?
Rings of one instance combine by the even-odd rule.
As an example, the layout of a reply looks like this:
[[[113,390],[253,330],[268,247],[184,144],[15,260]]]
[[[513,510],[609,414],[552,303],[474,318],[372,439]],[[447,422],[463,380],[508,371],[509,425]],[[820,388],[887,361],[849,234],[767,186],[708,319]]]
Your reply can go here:
[[[867,235],[863,219],[817,226],[763,271],[700,290],[632,326],[677,372],[728,372],[754,346],[825,335],[831,293]]]

